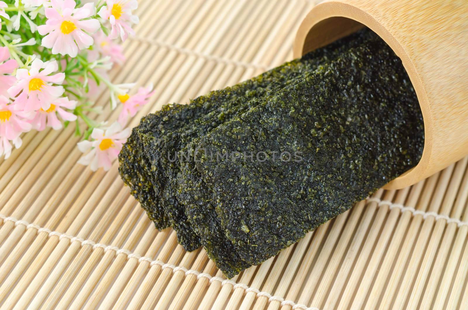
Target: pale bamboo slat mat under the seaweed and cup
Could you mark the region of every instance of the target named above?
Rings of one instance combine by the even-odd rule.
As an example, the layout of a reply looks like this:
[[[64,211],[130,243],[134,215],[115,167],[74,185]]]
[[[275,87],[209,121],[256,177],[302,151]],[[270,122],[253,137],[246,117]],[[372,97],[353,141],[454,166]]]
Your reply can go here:
[[[141,0],[115,82],[153,82],[131,126],[292,58],[312,0]],[[98,120],[113,121],[104,92]],[[277,257],[225,280],[203,250],[158,232],[117,174],[77,164],[69,126],[0,160],[2,309],[374,309],[468,304],[468,158],[376,192]]]

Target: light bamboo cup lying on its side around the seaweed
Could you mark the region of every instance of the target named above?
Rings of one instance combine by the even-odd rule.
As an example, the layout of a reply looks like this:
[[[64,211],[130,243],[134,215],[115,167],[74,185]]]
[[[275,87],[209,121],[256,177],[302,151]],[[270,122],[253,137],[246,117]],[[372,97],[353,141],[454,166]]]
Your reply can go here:
[[[300,25],[294,57],[364,26],[402,59],[423,113],[421,160],[386,185],[399,189],[468,155],[468,2],[328,0]]]

